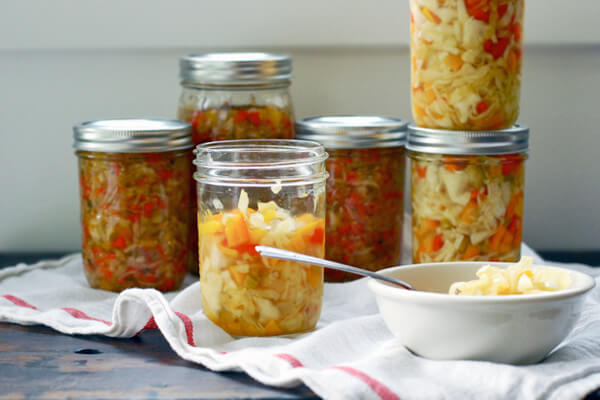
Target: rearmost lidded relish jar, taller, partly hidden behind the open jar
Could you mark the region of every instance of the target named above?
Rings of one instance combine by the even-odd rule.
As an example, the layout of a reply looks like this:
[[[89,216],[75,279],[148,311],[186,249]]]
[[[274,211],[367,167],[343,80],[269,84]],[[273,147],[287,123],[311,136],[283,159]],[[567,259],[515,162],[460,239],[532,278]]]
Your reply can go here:
[[[271,53],[190,54],[180,60],[177,118],[194,145],[217,140],[293,139],[292,60]],[[195,193],[195,191],[194,191]],[[195,204],[195,202],[194,202]],[[196,251],[195,233],[190,239]],[[198,264],[190,264],[198,273]]]

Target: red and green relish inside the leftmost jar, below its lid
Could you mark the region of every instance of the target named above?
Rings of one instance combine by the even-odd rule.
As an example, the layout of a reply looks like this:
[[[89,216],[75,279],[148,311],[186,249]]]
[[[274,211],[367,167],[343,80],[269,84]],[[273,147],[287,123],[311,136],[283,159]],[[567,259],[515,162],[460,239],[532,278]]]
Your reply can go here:
[[[90,286],[178,289],[191,222],[191,152],[77,153]]]

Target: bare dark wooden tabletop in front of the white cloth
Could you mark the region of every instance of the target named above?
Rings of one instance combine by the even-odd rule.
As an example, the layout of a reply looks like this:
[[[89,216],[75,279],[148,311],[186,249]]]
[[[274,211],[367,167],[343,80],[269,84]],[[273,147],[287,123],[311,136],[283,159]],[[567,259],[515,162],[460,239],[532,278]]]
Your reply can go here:
[[[314,399],[244,373],[215,373],[179,358],[158,331],[132,339],[69,336],[0,323],[0,399]]]

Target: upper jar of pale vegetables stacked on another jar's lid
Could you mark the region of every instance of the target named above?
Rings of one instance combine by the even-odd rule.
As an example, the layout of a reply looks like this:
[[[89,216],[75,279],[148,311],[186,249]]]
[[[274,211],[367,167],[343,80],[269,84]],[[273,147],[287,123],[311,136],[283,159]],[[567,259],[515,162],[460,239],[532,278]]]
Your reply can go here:
[[[418,126],[510,128],[519,115],[524,0],[410,0]]]

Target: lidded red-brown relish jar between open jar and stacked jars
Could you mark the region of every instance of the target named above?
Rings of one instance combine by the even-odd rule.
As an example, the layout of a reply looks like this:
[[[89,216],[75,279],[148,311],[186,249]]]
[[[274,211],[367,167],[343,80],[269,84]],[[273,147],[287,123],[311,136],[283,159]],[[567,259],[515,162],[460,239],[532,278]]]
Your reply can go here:
[[[317,141],[327,160],[328,260],[376,271],[402,263],[404,142],[408,123],[377,116],[300,120],[297,137]],[[326,270],[325,279],[358,278]]]

